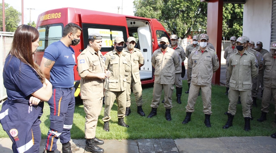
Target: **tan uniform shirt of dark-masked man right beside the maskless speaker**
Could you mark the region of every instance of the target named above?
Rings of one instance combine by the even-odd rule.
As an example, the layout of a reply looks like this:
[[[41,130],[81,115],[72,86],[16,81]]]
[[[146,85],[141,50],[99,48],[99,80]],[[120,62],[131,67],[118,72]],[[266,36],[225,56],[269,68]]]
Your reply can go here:
[[[109,91],[125,91],[125,72],[128,70],[128,56],[121,52],[119,55],[115,49],[104,55],[105,69],[110,71],[111,76],[105,79],[105,89]]]

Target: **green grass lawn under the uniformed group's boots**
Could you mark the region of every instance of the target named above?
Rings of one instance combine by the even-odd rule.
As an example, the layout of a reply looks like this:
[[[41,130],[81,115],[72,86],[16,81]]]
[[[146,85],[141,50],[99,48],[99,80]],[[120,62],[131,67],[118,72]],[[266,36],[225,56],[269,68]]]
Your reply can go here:
[[[114,103],[111,110],[110,131],[105,132],[103,130],[103,109],[98,120],[96,136],[100,139],[151,139],[151,138],[210,138],[210,137],[222,137],[222,136],[269,136],[275,132],[276,125],[273,122],[275,119],[274,106],[270,104],[269,113],[267,114],[267,120],[264,122],[258,122],[257,118],[261,115],[261,100],[257,100],[258,107],[253,108],[253,118],[251,121],[251,131],[245,132],[244,118],[242,115],[241,104],[237,105],[237,112],[233,120],[233,126],[229,129],[222,129],[227,121],[227,115],[224,112],[228,110],[228,98],[224,95],[225,87],[212,86],[212,112],[211,115],[211,128],[205,127],[203,114],[203,105],[201,96],[198,97],[195,105],[195,112],[191,116],[191,121],[183,125],[181,124],[186,116],[186,105],[188,94],[185,91],[188,89],[187,81],[183,81],[182,91],[182,104],[176,103],[175,90],[172,95],[173,108],[171,109],[172,121],[166,121],[165,108],[163,103],[157,109],[157,115],[153,118],[147,118],[151,111],[151,100],[152,100],[152,85],[150,87],[143,87],[143,110],[146,117],[141,117],[136,113],[137,106],[135,98],[132,93],[131,95],[131,111],[130,116],[125,117],[125,122],[130,127],[124,128],[117,124],[117,104]],[[163,99],[163,95],[161,100]],[[47,103],[44,105],[44,114],[41,117],[41,132],[42,138],[46,138],[48,128],[50,126],[49,120],[50,109]],[[71,129],[72,139],[84,139],[84,123],[85,113],[83,105],[80,100],[76,101],[75,115],[73,127]],[[0,137],[8,137],[6,132],[3,131],[0,125]]]

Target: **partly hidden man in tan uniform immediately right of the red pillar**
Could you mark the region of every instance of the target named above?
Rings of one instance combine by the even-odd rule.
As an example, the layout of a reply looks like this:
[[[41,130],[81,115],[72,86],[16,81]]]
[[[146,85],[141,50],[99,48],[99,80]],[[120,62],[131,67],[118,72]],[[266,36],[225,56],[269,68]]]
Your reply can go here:
[[[225,95],[228,95],[228,90],[229,90],[229,80],[230,80],[230,74],[228,72],[228,58],[229,56],[234,53],[236,51],[236,40],[237,38],[235,36],[232,36],[230,38],[230,45],[227,46],[224,50],[224,59],[226,59],[226,72],[225,72],[225,76],[226,76],[226,92],[224,93]]]

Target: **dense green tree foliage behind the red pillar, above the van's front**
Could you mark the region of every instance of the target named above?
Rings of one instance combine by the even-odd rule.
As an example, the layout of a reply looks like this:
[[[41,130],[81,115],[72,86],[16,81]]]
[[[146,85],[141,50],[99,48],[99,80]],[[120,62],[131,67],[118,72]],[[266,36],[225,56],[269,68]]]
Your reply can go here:
[[[206,33],[207,3],[199,0],[135,0],[134,15],[156,18],[169,34],[179,38]],[[232,35],[242,33],[242,4],[224,4],[223,36],[229,39]]]

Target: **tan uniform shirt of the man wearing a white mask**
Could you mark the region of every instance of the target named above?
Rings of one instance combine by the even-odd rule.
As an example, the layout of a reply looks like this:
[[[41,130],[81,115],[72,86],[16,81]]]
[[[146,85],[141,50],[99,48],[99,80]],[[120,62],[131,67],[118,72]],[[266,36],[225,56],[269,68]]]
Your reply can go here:
[[[217,54],[209,47],[202,53],[200,47],[191,52],[192,81],[194,85],[211,85],[213,73],[220,67]]]

